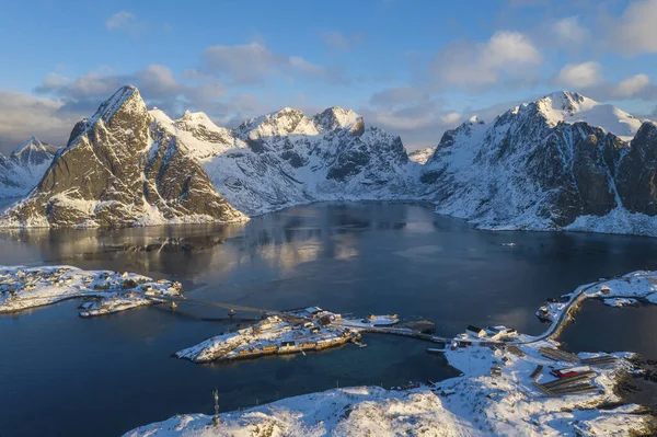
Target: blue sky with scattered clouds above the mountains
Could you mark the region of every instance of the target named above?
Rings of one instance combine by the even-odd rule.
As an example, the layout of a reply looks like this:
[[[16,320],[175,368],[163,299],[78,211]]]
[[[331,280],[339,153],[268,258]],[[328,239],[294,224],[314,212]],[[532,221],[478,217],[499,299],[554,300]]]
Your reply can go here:
[[[0,152],[66,143],[123,84],[218,125],[349,107],[435,146],[557,90],[657,118],[657,0],[31,1],[0,13]]]

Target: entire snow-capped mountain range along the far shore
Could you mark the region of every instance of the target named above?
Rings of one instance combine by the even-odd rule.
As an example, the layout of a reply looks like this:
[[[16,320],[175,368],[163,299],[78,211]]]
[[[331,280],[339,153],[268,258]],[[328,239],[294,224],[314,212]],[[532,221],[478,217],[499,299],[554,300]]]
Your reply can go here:
[[[33,142],[0,169],[49,165]],[[124,87],[78,123],[0,225],[235,221],[320,200],[419,199],[486,229],[657,235],[656,174],[657,125],[570,92],[491,124],[472,117],[446,131],[423,165],[400,137],[350,110],[286,107],[227,129],[204,113],[149,112]]]

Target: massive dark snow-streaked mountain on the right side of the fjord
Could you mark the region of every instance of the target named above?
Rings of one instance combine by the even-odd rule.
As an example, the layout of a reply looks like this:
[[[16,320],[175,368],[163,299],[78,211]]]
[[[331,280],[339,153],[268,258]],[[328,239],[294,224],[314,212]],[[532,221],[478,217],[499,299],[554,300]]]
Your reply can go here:
[[[625,135],[609,131],[619,128]],[[481,228],[657,234],[657,162],[646,159],[657,150],[654,130],[613,106],[554,93],[491,125],[445,133],[420,182],[438,212]]]

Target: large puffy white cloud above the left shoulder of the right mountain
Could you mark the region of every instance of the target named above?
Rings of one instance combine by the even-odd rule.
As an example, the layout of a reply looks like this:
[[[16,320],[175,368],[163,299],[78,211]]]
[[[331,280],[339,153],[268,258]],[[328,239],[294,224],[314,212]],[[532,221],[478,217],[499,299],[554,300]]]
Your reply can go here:
[[[519,32],[496,32],[486,43],[453,44],[431,61],[429,74],[441,85],[492,85],[505,77],[527,78],[541,64],[538,48]]]

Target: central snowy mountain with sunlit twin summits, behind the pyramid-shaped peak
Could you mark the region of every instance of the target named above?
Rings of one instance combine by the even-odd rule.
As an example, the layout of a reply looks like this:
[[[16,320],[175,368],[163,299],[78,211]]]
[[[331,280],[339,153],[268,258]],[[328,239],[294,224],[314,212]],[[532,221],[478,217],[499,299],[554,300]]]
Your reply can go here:
[[[399,137],[366,127],[350,110],[308,117],[286,107],[244,122],[233,149],[203,159],[217,189],[240,210],[262,214],[319,200],[416,195],[416,163]]]

